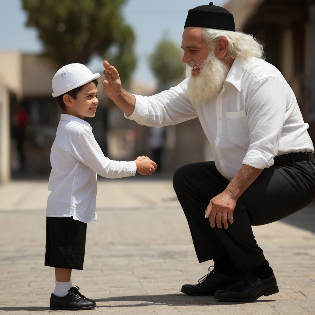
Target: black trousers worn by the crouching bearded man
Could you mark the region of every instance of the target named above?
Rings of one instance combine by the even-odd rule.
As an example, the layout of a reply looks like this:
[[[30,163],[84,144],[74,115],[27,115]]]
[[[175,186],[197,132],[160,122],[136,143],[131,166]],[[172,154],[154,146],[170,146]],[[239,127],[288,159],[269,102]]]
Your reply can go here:
[[[234,222],[227,229],[210,227],[205,210],[210,200],[229,184],[214,162],[180,167],[173,186],[186,215],[199,262],[230,255],[239,271],[260,266],[266,259],[257,245],[252,225],[278,221],[315,199],[313,161],[273,165],[264,169],[238,199]]]

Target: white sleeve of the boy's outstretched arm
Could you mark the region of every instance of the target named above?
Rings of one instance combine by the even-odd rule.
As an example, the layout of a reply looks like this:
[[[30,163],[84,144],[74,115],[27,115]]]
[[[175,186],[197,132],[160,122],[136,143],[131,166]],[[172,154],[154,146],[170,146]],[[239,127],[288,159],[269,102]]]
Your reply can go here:
[[[105,157],[94,136],[88,130],[80,132],[69,152],[95,173],[107,178],[134,176],[135,161],[112,161]]]

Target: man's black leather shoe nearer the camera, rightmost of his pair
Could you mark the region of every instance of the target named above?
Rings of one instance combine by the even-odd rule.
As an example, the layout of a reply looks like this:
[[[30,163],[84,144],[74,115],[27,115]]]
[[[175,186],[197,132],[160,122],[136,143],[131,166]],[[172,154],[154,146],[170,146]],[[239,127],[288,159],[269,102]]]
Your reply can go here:
[[[214,298],[229,302],[253,302],[262,295],[278,293],[274,274],[268,279],[260,279],[250,271],[243,272],[230,286],[215,292]]]

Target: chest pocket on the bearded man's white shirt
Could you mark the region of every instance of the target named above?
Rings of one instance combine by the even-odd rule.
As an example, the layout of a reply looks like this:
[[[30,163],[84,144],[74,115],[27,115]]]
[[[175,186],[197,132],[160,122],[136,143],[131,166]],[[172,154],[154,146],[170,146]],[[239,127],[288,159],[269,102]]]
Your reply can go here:
[[[246,112],[225,112],[229,140],[244,149],[249,147],[249,130]]]

